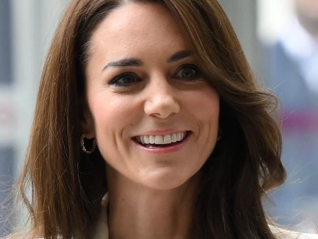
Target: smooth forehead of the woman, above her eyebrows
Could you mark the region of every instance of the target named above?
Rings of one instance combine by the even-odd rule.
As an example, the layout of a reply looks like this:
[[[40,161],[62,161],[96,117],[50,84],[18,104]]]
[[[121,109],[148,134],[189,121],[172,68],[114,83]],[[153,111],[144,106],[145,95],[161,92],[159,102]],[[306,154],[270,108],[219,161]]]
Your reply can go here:
[[[114,9],[92,36],[94,53],[108,57],[189,49],[172,14],[160,3],[127,3]],[[163,52],[164,51],[164,52]]]

